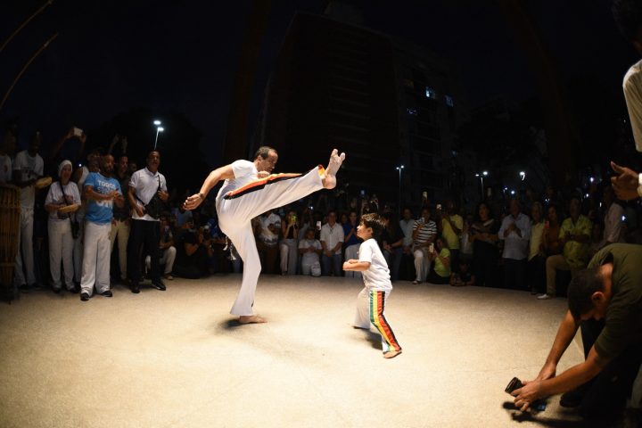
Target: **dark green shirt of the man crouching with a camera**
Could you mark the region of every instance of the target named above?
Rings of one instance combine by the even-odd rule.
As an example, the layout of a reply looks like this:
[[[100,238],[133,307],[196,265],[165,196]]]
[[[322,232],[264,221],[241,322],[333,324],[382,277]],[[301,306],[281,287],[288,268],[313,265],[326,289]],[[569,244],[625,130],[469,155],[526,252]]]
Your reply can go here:
[[[614,358],[629,346],[642,350],[642,245],[613,243],[588,263],[596,268],[613,262],[611,301],[605,327],[597,337],[597,354]]]

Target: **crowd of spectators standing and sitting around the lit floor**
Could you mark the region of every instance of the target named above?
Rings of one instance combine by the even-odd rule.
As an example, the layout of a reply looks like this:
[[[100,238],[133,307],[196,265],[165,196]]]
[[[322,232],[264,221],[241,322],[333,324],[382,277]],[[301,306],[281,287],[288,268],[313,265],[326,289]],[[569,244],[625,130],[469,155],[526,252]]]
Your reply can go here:
[[[38,154],[42,143],[38,133],[29,148],[18,153],[14,153],[14,133],[4,134],[0,182],[18,186],[21,199],[17,289],[65,288],[89,294],[88,298],[93,292],[84,287],[91,284],[80,286],[86,276],[99,294],[109,297],[114,283],[139,292],[148,278],[154,288],[164,290],[164,281],[175,276],[201,278],[242,271],[234,245],[218,228],[213,199],[193,212],[184,210],[186,192],[168,190],[171,177],[166,181],[159,171],[159,152],[148,155],[143,169],[128,159],[126,140],[120,141],[115,159],[112,144],[103,152],[89,151],[84,166],[56,160],[62,145],[74,137],[84,150],[86,136],[77,135],[74,128],[54,145],[45,162]],[[47,173],[55,176],[53,183],[37,190],[38,179]],[[96,191],[102,179],[119,186],[112,185],[109,194],[103,194]],[[158,199],[157,206],[152,199]],[[95,209],[108,207],[109,215],[88,214],[91,201]],[[617,201],[607,184],[570,193],[549,187],[540,197],[530,189],[508,196],[499,192],[467,210],[460,209],[459,202],[449,198],[431,203],[424,196],[420,206],[399,210],[365,192],[343,194],[341,201],[325,191],[315,193],[254,218],[262,273],[360,277],[358,272],[344,272],[342,262],[358,259],[356,231],[367,212],[378,212],[385,219],[379,244],[392,281],[523,289],[542,300],[564,293],[570,277],[605,245],[642,241],[639,205]],[[62,210],[73,204],[79,210]],[[152,213],[152,205],[158,212]],[[94,223],[101,226],[100,238]],[[87,242],[88,226],[95,242]],[[83,261],[87,245],[99,245],[92,250],[97,264]],[[109,280],[104,279],[105,266]],[[94,269],[94,275],[87,276],[87,269]]]

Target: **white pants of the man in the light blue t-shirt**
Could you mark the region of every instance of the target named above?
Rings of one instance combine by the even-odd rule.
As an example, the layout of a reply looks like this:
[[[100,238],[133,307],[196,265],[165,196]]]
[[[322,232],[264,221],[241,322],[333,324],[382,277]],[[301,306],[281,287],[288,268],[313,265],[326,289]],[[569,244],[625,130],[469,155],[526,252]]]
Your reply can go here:
[[[91,221],[85,222],[85,239],[83,250],[83,275],[80,280],[80,291],[90,296],[94,292],[106,292],[110,289],[110,249],[109,235],[111,223],[100,225]]]

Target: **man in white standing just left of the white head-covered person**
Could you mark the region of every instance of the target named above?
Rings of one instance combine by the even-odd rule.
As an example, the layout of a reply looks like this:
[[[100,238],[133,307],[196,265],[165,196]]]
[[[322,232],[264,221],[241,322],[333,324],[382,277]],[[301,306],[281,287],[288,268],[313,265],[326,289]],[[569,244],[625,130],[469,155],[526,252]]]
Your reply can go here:
[[[33,214],[36,201],[34,184],[39,177],[42,177],[45,168],[45,162],[37,154],[41,141],[40,133],[37,132],[31,139],[29,149],[16,154],[13,161],[13,184],[21,188],[21,221],[18,242],[22,249],[16,255],[14,283],[21,288],[22,292],[29,292],[30,287],[37,287],[33,259]]]

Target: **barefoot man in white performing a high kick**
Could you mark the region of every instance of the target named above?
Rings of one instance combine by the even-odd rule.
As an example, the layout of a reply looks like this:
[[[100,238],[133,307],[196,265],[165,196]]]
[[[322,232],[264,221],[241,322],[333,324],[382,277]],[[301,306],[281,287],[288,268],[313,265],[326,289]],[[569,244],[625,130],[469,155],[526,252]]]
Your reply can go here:
[[[243,283],[230,311],[239,317],[239,323],[265,323],[265,319],[254,315],[254,293],[260,273],[259,251],[257,251],[251,219],[267,210],[273,210],[316,192],[333,189],[336,173],[341,168],[345,153],[334,149],[326,169],[318,166],[306,175],[273,174],[278,154],[272,147],[260,147],[254,161],[234,161],[225,167],[214,169],[202,184],[201,191],[188,197],[185,210],[198,207],[220,180],[225,180],[218,191],[216,208],[218,226],[235,244],[243,259]]]

